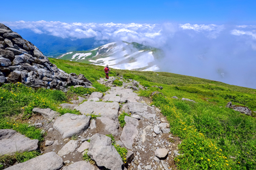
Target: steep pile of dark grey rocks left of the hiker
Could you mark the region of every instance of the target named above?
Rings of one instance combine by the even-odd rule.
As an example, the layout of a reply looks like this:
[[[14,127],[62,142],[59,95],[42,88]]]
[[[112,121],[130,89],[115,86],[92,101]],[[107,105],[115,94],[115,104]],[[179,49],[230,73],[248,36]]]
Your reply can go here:
[[[31,42],[0,23],[0,83],[22,82],[27,86],[56,88],[90,87],[83,74],[66,73],[51,63]]]

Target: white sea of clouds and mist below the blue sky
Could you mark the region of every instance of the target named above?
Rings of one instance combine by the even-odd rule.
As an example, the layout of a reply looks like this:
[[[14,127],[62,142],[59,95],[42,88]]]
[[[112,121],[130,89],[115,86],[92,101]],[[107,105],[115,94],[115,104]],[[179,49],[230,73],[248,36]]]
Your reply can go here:
[[[165,52],[165,57],[156,61],[162,71],[256,88],[255,25],[98,24],[44,20],[3,24],[15,30],[30,29],[66,39],[93,37],[99,44],[136,41]]]

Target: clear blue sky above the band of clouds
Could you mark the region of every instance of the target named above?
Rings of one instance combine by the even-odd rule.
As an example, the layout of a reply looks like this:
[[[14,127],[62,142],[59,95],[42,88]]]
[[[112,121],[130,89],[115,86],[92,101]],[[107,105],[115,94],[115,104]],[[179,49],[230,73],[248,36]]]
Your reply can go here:
[[[0,22],[256,24],[256,1],[1,1]]]

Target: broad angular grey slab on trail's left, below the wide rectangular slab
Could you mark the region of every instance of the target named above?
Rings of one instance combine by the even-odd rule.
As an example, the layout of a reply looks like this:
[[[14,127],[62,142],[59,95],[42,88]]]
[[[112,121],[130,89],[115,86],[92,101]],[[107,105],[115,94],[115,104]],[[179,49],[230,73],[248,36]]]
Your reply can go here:
[[[80,135],[89,127],[90,118],[91,116],[63,114],[55,120],[53,128],[62,135],[63,139]]]

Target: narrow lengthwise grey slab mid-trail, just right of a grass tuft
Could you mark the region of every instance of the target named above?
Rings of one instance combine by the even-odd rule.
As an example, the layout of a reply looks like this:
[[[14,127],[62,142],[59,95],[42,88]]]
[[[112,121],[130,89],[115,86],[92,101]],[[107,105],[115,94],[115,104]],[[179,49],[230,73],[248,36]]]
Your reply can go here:
[[[126,125],[124,126],[121,141],[124,143],[126,148],[132,150],[132,144],[134,143],[134,138],[138,135],[137,126],[139,125],[139,120],[129,116],[124,117]]]

